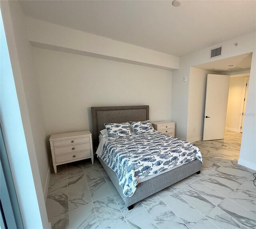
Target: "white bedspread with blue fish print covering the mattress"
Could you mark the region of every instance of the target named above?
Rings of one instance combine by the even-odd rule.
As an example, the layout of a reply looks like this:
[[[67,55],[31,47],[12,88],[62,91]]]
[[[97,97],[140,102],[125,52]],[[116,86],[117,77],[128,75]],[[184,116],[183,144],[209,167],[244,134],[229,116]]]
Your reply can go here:
[[[156,131],[108,140],[100,158],[116,173],[127,197],[142,178],[192,160],[202,162],[196,145]]]

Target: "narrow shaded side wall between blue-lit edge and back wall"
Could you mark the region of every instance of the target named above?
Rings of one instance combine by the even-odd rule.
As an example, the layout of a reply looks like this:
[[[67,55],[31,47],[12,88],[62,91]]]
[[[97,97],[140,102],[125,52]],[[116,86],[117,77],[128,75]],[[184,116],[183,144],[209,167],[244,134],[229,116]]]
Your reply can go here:
[[[35,147],[40,172],[40,180],[44,190],[48,183],[47,175],[49,172],[49,158],[46,151],[44,116],[40,100],[38,80],[33,64],[32,45],[28,41],[25,16],[20,8],[20,4],[10,3],[10,6],[13,6],[11,15],[14,24],[14,36],[26,96],[26,106],[28,109],[30,126],[33,134],[33,142],[29,142],[29,144],[34,144]],[[12,61],[12,56],[10,58]]]

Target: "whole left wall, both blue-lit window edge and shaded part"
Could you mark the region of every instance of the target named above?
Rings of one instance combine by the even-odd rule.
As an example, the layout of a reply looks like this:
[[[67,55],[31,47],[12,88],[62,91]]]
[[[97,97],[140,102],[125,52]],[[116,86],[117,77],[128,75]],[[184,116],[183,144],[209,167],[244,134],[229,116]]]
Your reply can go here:
[[[14,185],[24,227],[49,228],[42,189],[48,158],[32,47],[26,38],[20,4],[2,1],[1,13],[8,44],[4,53],[6,45],[2,46],[5,41],[1,31],[1,125]]]

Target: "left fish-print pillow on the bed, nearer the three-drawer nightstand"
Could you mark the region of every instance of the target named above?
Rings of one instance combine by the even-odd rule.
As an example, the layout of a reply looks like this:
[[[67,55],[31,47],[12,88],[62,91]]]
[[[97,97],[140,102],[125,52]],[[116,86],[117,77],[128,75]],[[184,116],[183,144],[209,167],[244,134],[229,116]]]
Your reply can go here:
[[[128,122],[104,123],[104,125],[108,130],[108,140],[132,135]]]

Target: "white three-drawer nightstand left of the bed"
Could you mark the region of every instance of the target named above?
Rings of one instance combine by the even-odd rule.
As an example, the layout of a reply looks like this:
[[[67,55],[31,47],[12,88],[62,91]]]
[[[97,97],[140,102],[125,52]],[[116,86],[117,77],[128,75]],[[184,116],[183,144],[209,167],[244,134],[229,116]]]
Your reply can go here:
[[[69,162],[92,158],[93,164],[92,134],[90,131],[52,134],[49,140],[55,173],[58,165]]]

